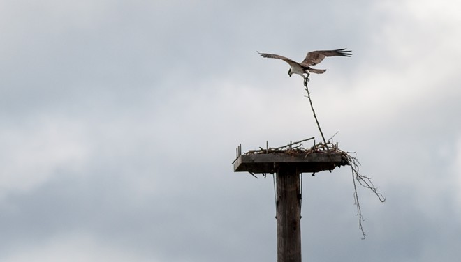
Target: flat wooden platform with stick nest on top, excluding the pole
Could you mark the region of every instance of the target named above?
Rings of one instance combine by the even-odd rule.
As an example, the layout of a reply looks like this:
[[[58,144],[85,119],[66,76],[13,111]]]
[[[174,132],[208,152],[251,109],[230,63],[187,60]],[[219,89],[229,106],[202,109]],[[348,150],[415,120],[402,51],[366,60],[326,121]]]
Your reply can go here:
[[[313,137],[310,139],[314,139]],[[235,172],[250,174],[275,174],[280,169],[294,169],[296,173],[316,173],[331,171],[335,167],[350,165],[346,152],[337,144],[314,144],[311,148],[302,147],[302,142],[290,143],[279,148],[251,150],[242,154],[242,146],[237,147],[237,157],[233,162]]]

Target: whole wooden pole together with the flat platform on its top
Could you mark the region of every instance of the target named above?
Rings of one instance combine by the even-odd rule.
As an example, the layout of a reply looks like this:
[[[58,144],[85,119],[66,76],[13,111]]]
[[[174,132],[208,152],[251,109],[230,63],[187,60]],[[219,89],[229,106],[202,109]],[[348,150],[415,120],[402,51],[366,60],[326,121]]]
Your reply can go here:
[[[307,154],[261,150],[242,155],[242,146],[238,146],[233,164],[235,172],[276,174],[277,262],[301,262],[300,176],[331,171],[349,163],[337,152]]]

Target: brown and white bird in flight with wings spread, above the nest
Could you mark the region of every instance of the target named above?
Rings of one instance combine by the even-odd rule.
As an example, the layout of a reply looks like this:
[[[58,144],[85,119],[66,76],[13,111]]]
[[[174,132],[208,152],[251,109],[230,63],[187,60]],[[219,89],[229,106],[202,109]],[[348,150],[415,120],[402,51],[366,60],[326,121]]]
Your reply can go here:
[[[288,75],[291,77],[293,74],[298,74],[304,78],[304,85],[307,85],[307,82],[309,81],[309,75],[311,72],[314,72],[316,74],[323,74],[326,69],[314,69],[311,68],[311,66],[315,66],[316,64],[320,63],[323,61],[323,59],[327,56],[351,56],[351,51],[346,50],[346,48],[343,49],[336,49],[336,50],[321,50],[321,51],[312,51],[307,53],[306,58],[301,62],[295,62],[291,59],[286,58],[285,56],[279,56],[278,54],[265,54],[265,53],[260,53],[261,56],[268,58],[268,59],[281,59],[288,63],[291,68],[288,70]],[[305,76],[304,74],[307,74]]]

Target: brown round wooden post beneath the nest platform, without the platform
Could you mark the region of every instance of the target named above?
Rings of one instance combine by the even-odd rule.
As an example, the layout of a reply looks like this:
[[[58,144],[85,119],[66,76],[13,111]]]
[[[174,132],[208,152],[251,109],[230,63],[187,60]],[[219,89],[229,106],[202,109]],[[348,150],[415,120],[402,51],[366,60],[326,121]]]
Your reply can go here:
[[[277,262],[301,262],[300,173],[277,172]]]

